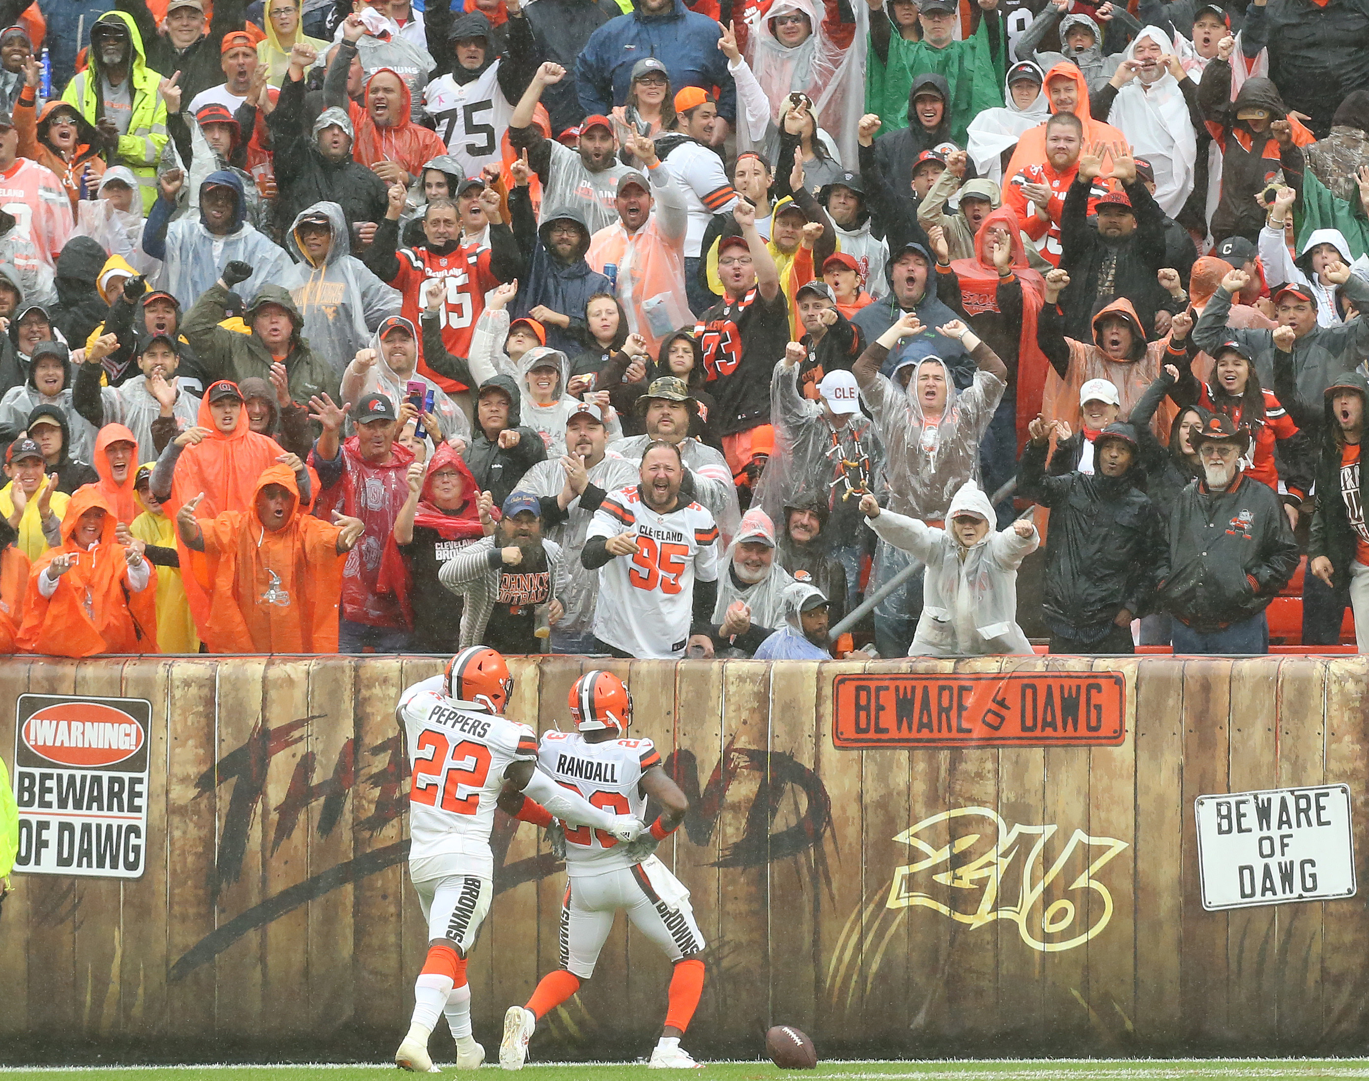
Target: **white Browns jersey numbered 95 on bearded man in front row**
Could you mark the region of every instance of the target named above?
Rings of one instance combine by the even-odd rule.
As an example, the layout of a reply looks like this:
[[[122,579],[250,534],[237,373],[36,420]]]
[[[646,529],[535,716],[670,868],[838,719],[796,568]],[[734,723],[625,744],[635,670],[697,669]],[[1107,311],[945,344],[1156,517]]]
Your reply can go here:
[[[585,539],[627,531],[637,534],[637,551],[600,568],[594,635],[632,657],[680,657],[694,579],[717,580],[717,524],[698,504],[657,515],[632,484],[604,498]]]

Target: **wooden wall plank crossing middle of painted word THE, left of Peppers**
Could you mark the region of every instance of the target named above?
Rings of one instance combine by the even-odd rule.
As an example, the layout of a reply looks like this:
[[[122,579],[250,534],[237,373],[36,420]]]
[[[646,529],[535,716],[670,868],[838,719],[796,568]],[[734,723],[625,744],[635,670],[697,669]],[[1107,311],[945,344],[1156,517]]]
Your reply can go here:
[[[346,863],[355,854],[356,805],[348,792],[357,764],[352,662],[342,657],[311,661],[308,687],[308,714],[316,718],[309,724],[314,798],[296,829],[308,837],[312,878]],[[352,885],[312,899],[305,921],[309,1029],[322,1037],[344,1029],[357,1004],[367,999],[352,984]]]

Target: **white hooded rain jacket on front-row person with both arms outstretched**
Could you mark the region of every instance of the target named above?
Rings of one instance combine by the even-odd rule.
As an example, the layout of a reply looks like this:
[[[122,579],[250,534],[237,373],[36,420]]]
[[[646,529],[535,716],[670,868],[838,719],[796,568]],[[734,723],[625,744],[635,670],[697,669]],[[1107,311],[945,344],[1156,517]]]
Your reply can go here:
[[[961,512],[990,523],[984,539],[971,549],[962,547],[950,528]],[[893,510],[869,520],[882,540],[927,564],[923,614],[908,655],[1029,655],[1031,643],[1017,625],[1017,566],[1040,546],[1036,528],[1029,536],[1012,528],[995,532],[993,504],[973,480],[958,487],[945,519],[945,530]]]

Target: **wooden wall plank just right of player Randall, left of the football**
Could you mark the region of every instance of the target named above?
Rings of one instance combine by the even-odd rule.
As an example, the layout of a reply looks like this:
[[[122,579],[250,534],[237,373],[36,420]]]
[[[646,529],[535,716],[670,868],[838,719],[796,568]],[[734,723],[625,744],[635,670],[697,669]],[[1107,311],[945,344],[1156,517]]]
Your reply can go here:
[[[739,766],[745,762],[727,788],[717,824],[726,863],[719,873],[719,941],[727,947],[721,966],[727,978],[716,987],[719,1037],[738,1044],[765,1030],[769,1004],[768,816],[753,820],[753,807],[764,798],[769,747],[769,665],[764,661],[723,664],[723,746],[732,748]]]

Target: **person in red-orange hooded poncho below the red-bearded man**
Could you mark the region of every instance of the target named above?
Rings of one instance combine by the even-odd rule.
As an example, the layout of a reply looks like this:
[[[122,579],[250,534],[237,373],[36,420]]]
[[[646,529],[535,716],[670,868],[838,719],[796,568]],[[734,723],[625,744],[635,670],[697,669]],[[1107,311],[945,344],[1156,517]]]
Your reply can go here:
[[[975,257],[957,259],[950,268],[960,285],[960,307],[969,316],[975,333],[1008,364],[1009,387],[1014,389],[1010,401],[1017,435],[1008,464],[1008,476],[1012,476],[1017,454],[1027,445],[1027,426],[1040,413],[1040,397],[1050,368],[1046,354],[1036,345],[1036,316],[1046,286],[1040,274],[1027,263],[1021,222],[1012,207],[999,207],[990,213],[975,234]],[[1003,271],[1006,276],[999,276]],[[941,281],[936,283],[938,296],[945,300]],[[1012,289],[1014,283],[1017,289]],[[1001,286],[1008,289],[1002,305],[998,302]],[[1009,401],[1006,394],[1003,400]],[[998,409],[1002,411],[1003,405]]]

